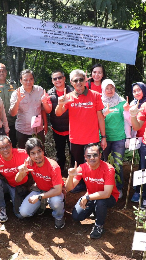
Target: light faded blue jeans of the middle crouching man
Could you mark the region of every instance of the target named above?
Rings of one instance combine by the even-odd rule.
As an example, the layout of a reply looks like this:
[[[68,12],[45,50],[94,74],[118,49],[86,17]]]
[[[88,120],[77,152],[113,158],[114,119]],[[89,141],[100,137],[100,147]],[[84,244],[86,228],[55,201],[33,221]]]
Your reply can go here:
[[[34,215],[34,213],[40,208],[40,201],[37,201],[35,204],[29,203],[28,199],[32,197],[33,195],[39,195],[41,194],[40,191],[31,191],[30,194],[27,195],[27,197],[22,202],[19,212],[23,217],[31,217]],[[50,206],[50,208],[53,209],[52,216],[56,219],[61,219],[64,215],[64,194],[61,193],[59,196],[54,196],[51,198],[48,198],[47,202]]]

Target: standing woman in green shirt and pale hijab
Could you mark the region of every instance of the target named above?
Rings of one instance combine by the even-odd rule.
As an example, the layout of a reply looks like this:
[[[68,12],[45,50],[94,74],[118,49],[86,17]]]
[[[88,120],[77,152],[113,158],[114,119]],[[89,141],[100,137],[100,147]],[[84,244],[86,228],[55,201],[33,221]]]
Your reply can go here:
[[[102,101],[105,109],[103,109],[103,115],[105,117],[105,125],[106,125],[106,141],[107,147],[103,151],[104,160],[107,161],[108,155],[112,152],[114,158],[123,159],[123,155],[125,152],[125,123],[123,117],[123,105],[126,103],[126,100],[120,97],[115,92],[115,84],[113,80],[106,79],[102,82]],[[121,158],[118,157],[115,153],[118,152],[121,154]],[[116,181],[116,187],[120,192],[119,198],[122,198],[123,192],[123,167],[118,164],[116,160],[114,162],[120,167],[120,179],[121,183]]]

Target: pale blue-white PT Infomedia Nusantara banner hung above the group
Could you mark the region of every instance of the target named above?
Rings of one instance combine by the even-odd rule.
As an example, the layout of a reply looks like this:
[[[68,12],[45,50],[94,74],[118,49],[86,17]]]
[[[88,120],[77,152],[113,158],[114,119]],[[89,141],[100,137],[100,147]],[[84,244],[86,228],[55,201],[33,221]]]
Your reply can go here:
[[[7,14],[7,45],[135,64],[139,32]]]

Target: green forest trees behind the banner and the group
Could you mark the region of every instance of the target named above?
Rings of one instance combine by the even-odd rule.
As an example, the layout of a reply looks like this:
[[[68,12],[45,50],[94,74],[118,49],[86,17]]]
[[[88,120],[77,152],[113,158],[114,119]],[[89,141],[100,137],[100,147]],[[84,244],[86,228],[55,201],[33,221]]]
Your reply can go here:
[[[135,65],[110,62],[41,50],[7,46],[7,14],[71,23],[85,26],[139,31]],[[48,90],[53,87],[51,73],[61,69],[69,84],[69,73],[73,69],[90,69],[102,63],[107,78],[114,81],[117,90],[131,101],[131,85],[137,81],[146,83],[146,0],[1,0],[0,1],[0,63],[4,63],[18,85],[19,73],[32,69],[35,84]],[[17,30],[17,28],[16,28]],[[33,38],[31,39],[33,41]]]

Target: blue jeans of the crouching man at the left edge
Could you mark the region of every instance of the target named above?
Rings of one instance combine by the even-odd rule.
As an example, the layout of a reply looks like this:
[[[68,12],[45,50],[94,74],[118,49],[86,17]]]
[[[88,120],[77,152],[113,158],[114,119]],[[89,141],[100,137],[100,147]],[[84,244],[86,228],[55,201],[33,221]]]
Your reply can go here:
[[[13,210],[14,210],[15,187],[10,186],[8,183],[5,183],[4,180],[0,179],[0,208],[2,207],[5,208],[5,198],[4,198],[5,193],[10,194],[12,204],[13,204]],[[14,214],[19,219],[23,219],[23,216],[21,214],[15,213],[15,210],[14,210]]]

